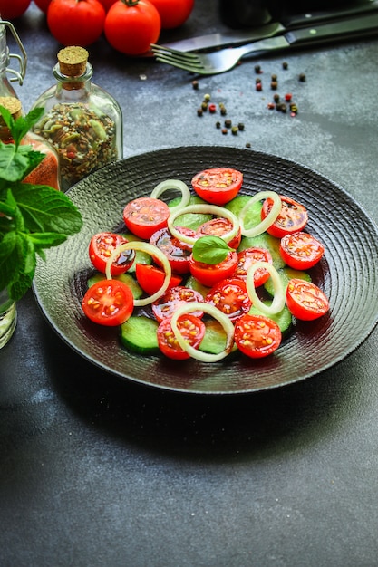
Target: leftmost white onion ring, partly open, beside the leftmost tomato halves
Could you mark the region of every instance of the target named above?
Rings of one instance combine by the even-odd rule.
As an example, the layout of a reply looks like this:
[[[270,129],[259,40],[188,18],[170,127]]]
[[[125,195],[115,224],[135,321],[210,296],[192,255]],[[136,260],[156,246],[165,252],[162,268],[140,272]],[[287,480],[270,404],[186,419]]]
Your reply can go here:
[[[168,258],[165,254],[163,254],[159,248],[154,245],[150,245],[147,242],[139,242],[138,240],[133,240],[131,242],[126,242],[122,245],[117,246],[111,256],[108,258],[106,262],[106,269],[105,275],[108,280],[111,280],[111,264],[114,260],[123,252],[123,250],[139,250],[140,252],[146,252],[147,254],[151,255],[152,257],[158,258],[160,260],[161,265],[163,267],[165,277],[163,284],[155,293],[149,295],[149,297],[145,297],[143,299],[134,299],[135,307],[142,307],[143,305],[149,305],[150,303],[154,302],[156,299],[159,299],[161,295],[168,289],[168,285],[170,283],[170,276],[172,274],[172,270],[170,268],[170,263]]]

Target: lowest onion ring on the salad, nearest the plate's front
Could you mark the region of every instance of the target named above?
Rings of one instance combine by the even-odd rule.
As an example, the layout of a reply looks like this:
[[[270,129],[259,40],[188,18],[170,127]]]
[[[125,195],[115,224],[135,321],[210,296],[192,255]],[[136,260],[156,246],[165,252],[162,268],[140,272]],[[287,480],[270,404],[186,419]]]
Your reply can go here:
[[[209,352],[199,351],[195,349],[187,341],[183,338],[181,333],[179,332],[178,327],[178,319],[181,315],[185,315],[186,313],[193,312],[193,311],[203,311],[208,313],[217,319],[217,321],[222,325],[223,329],[226,331],[227,335],[227,342],[226,348],[224,351],[218,352],[218,354],[210,354]],[[224,359],[230,351],[232,351],[232,347],[234,345],[234,325],[228,319],[228,316],[221,312],[217,307],[214,305],[210,305],[209,303],[202,303],[202,302],[189,302],[186,305],[181,305],[177,311],[175,311],[170,319],[170,326],[174,335],[179,342],[179,346],[183,351],[188,352],[188,354],[196,360],[201,362],[218,362],[218,360]]]

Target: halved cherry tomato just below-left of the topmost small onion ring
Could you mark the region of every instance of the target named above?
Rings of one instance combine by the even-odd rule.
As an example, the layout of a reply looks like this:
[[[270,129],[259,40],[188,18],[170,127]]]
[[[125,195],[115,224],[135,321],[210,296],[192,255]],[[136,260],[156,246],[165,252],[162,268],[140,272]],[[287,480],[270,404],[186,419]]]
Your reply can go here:
[[[160,199],[139,197],[123,209],[123,220],[132,234],[150,240],[154,232],[167,226],[170,207]]]

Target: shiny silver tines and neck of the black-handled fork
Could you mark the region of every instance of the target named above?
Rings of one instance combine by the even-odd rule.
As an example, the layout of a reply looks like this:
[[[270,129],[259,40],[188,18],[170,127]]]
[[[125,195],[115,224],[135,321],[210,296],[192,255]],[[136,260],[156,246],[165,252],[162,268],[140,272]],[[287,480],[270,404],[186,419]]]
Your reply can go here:
[[[279,36],[267,38],[259,42],[247,43],[240,47],[228,47],[213,53],[180,52],[156,43],[151,43],[150,47],[152,53],[156,56],[156,61],[168,63],[173,67],[184,69],[184,71],[201,75],[215,75],[233,69],[240,59],[248,53],[257,53],[287,46],[285,38]]]

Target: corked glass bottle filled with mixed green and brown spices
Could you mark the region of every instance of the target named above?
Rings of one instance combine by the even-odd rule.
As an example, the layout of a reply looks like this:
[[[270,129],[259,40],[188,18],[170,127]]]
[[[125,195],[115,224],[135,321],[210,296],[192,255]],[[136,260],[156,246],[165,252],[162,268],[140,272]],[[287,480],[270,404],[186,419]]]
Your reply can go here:
[[[88,55],[82,47],[62,49],[53,67],[56,84],[32,107],[44,108],[34,132],[59,156],[63,191],[123,153],[121,108],[92,82]]]

